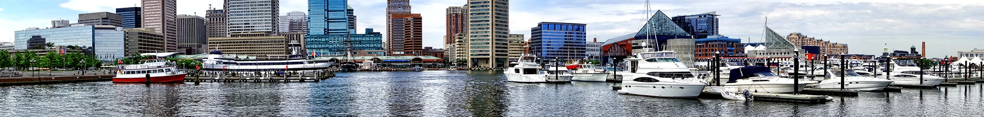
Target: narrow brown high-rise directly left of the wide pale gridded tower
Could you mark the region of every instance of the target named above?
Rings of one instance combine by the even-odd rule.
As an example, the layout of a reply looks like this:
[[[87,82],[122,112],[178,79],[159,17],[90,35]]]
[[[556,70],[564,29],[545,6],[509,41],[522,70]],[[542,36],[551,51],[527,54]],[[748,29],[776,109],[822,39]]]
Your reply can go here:
[[[229,23],[227,22],[229,18],[226,17],[227,15],[225,15],[225,11],[212,9],[212,10],[207,10],[205,12],[206,12],[205,19],[207,19],[205,22],[206,30],[209,31],[208,36],[209,37],[229,36],[229,30],[228,30]]]

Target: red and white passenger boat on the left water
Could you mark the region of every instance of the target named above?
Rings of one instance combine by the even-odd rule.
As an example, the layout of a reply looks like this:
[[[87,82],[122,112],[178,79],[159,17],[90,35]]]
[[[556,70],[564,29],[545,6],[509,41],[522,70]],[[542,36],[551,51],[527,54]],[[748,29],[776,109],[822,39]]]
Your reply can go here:
[[[187,75],[167,59],[145,59],[141,62],[117,65],[113,83],[181,83]]]

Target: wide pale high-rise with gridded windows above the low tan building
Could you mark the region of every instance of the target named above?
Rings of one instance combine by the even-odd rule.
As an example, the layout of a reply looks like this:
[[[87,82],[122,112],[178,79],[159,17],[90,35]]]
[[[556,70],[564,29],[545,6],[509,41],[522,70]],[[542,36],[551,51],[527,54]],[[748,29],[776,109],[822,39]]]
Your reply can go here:
[[[279,0],[225,0],[229,33],[277,32]]]

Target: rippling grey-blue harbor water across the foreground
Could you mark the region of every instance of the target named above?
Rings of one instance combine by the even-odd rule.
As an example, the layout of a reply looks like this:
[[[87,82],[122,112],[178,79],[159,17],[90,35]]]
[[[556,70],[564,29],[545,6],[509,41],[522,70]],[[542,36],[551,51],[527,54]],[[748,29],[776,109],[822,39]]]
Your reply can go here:
[[[980,116],[978,85],[822,104],[618,95],[613,83],[518,84],[499,71],[339,73],[320,83],[0,87],[0,116]]]

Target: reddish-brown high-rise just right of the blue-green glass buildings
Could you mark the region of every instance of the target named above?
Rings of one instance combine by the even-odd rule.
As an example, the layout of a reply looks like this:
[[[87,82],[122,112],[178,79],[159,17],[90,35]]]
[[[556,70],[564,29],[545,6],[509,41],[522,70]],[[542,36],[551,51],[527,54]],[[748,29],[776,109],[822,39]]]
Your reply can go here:
[[[389,42],[390,56],[420,56],[423,54],[423,17],[420,14],[390,15]]]

